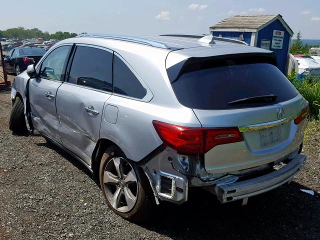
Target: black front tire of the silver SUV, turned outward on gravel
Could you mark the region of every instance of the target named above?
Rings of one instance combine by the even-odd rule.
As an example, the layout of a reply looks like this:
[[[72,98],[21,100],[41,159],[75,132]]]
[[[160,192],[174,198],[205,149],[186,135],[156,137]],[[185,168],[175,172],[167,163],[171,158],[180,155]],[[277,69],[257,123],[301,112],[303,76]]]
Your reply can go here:
[[[10,114],[9,129],[17,134],[24,134],[27,132],[24,117],[24,104],[20,96],[15,97]]]

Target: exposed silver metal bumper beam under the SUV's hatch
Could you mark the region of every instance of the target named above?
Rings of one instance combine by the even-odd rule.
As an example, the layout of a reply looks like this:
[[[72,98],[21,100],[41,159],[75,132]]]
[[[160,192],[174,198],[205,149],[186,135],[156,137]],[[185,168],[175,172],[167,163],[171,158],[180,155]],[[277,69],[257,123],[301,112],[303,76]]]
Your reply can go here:
[[[222,203],[234,201],[289,183],[299,171],[305,159],[305,155],[298,154],[285,166],[271,173],[240,182],[215,186],[217,198]]]

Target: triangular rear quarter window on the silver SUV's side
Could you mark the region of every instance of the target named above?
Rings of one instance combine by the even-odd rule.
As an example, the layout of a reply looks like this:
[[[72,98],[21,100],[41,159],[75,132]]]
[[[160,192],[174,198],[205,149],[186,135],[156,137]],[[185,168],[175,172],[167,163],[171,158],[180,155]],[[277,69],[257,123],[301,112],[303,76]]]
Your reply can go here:
[[[116,55],[113,59],[113,91],[122,95],[143,98],[146,89],[130,68]]]

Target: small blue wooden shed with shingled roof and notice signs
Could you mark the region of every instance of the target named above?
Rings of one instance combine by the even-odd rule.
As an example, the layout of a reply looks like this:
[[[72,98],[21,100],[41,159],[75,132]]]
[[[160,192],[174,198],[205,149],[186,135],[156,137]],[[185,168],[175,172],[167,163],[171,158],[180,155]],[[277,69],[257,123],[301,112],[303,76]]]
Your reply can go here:
[[[274,51],[279,69],[287,73],[286,62],[293,31],[280,14],[230,16],[210,26],[210,34]]]

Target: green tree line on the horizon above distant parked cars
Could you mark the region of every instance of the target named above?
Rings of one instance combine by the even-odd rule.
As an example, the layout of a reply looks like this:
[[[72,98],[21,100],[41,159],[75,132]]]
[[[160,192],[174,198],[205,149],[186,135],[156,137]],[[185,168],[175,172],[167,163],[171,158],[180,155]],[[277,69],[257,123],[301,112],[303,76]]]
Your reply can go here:
[[[49,40],[49,39],[57,39],[57,40],[63,40],[69,37],[74,37],[78,35],[77,33],[70,33],[67,31],[57,31],[55,33],[50,34],[47,31],[41,31],[38,28],[32,28],[32,29],[25,29],[22,26],[14,27],[14,28],[8,28],[6,30],[0,30],[0,36],[6,37],[6,38],[19,38],[19,39],[26,39],[26,38],[39,38],[42,37],[43,40]]]

